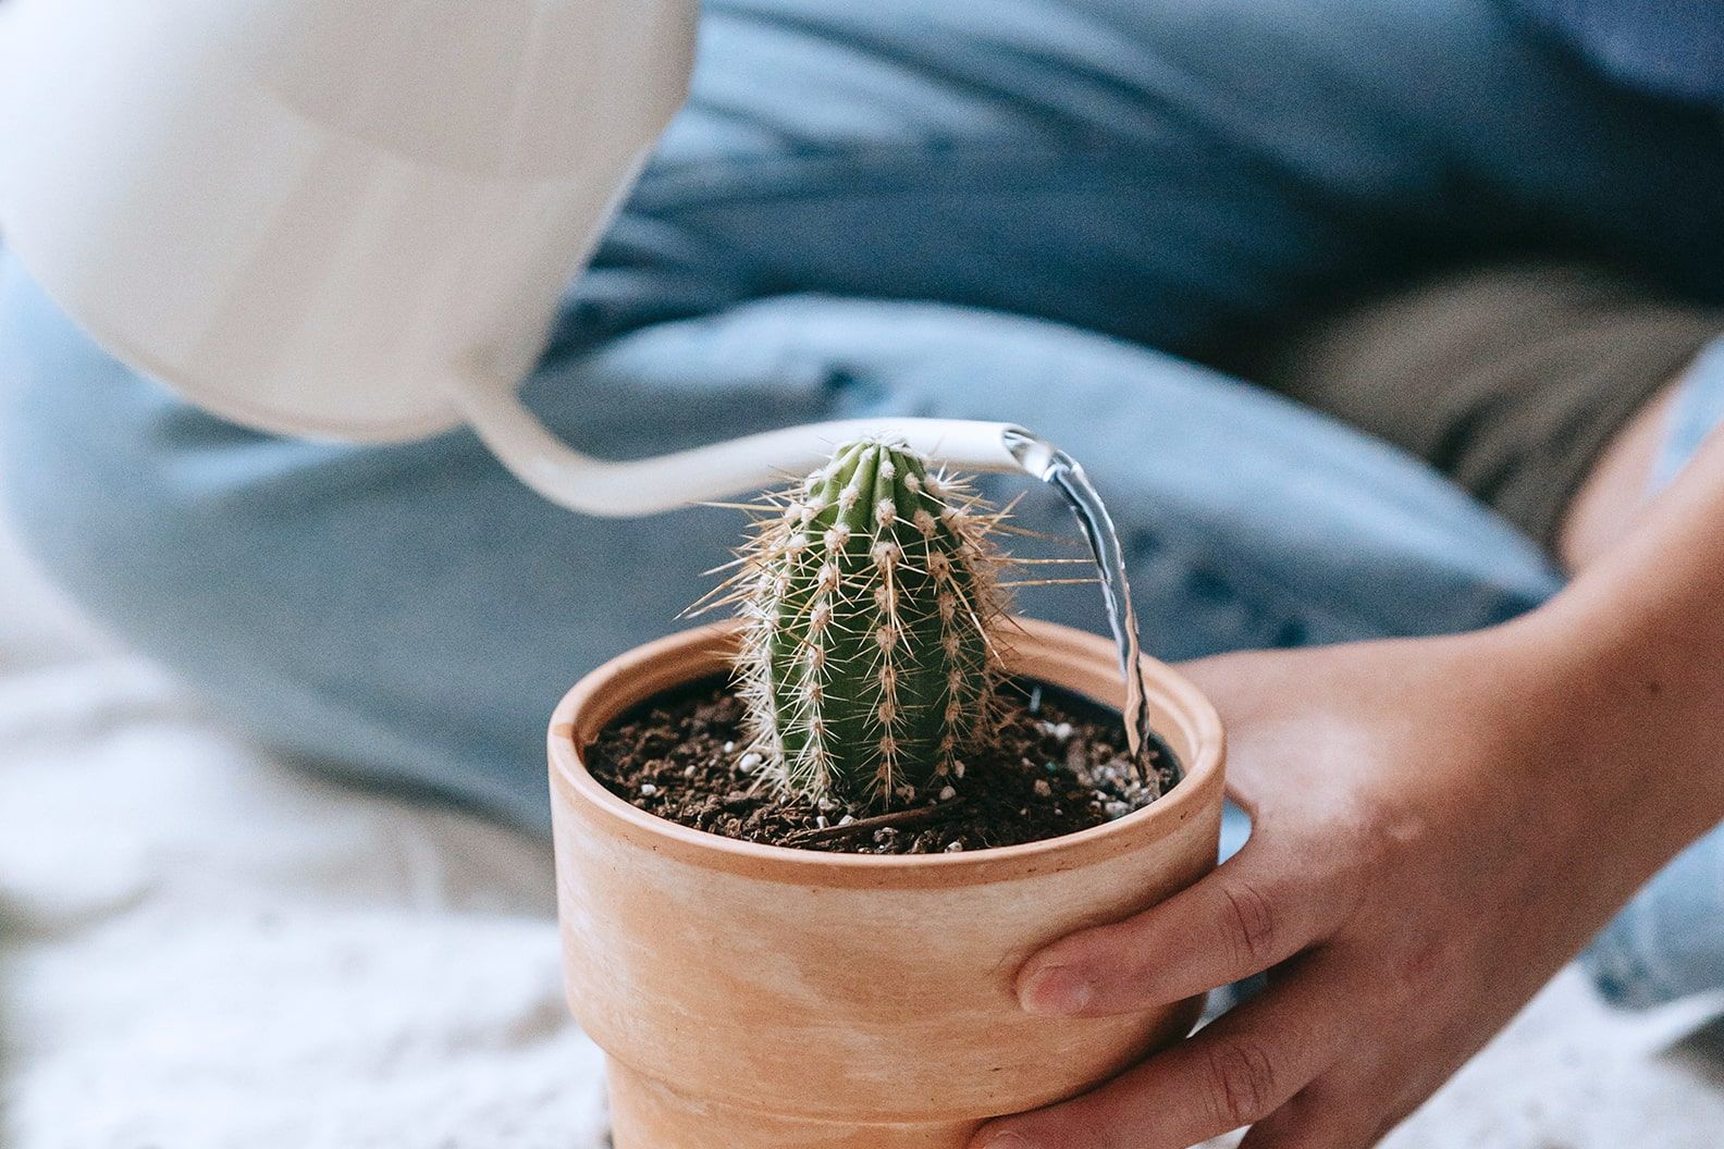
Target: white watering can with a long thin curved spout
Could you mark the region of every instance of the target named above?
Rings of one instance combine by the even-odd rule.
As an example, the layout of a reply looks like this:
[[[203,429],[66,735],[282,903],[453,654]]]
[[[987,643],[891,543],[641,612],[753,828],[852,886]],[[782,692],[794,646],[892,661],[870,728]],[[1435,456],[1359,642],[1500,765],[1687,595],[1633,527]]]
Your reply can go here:
[[[688,95],[696,0],[0,3],[0,234],[109,351],[240,424],[471,424],[524,482],[645,515],[807,470],[860,431],[1038,470],[1007,424],[791,427],[638,462],[515,389]]]

